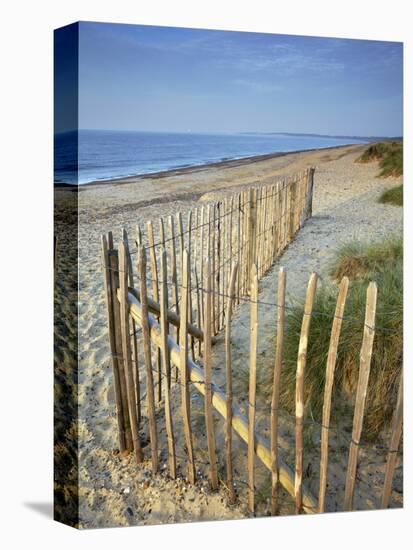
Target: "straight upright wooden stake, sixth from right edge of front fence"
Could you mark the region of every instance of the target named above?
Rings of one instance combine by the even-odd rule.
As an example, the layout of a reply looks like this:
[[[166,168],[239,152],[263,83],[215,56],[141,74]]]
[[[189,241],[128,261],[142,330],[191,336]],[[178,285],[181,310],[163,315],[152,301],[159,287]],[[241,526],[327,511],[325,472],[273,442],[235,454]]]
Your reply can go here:
[[[257,266],[251,268],[251,314],[250,314],[250,372],[248,404],[248,507],[254,513],[255,500],[255,397],[257,390],[257,348],[258,348],[258,275]]]

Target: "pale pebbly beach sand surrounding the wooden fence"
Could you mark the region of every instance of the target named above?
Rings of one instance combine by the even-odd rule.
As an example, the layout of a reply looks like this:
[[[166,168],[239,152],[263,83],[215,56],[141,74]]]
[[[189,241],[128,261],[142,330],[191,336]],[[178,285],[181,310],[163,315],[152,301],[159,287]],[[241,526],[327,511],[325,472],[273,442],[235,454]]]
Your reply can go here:
[[[117,182],[106,182],[82,186],[77,192],[57,189],[57,195],[76,196],[79,202],[79,526],[95,528],[117,525],[142,525],[175,523],[212,519],[248,517],[246,510],[245,487],[239,486],[239,502],[227,502],[225,488],[212,493],[206,481],[203,461],[206,459],[205,438],[196,443],[196,456],[199,460],[199,473],[202,479],[195,485],[188,485],[185,476],[185,461],[180,465],[178,480],[169,480],[166,473],[152,478],[150,473],[149,447],[144,448],[145,462],[137,466],[132,456],[121,456],[118,449],[115,401],[112,382],[112,367],[107,334],[106,308],[103,293],[103,276],[100,259],[100,236],[109,230],[118,242],[122,228],[135,238],[136,225],[147,220],[158,220],[161,216],[185,212],[199,204],[199,201],[215,200],[224,193],[244,185],[259,184],[270,177],[294,174],[310,166],[316,166],[313,218],[298,233],[295,240],[279,261],[260,282],[262,300],[274,300],[277,287],[279,265],[288,271],[289,296],[299,297],[305,291],[311,271],[321,276],[321,284],[330,284],[327,270],[334,249],[353,236],[365,240],[402,231],[402,209],[376,202],[383,189],[398,185],[401,178],[376,178],[377,163],[356,164],[354,160],[366,146],[346,146],[335,149],[292,153],[245,161],[225,162],[220,165],[185,169],[150,177],[135,177]],[[63,199],[61,201],[63,203]],[[70,238],[70,237],[66,237]],[[73,238],[73,235],[72,235]],[[60,242],[64,248],[65,238]],[[57,279],[61,288],[68,284],[68,262],[73,258],[60,251],[57,265]],[[70,267],[70,266],[69,266]],[[60,275],[59,275],[60,273]],[[65,302],[57,316],[67,314],[74,304]],[[260,326],[275,319],[275,312],[260,311]],[[268,349],[271,337],[271,323],[267,332],[260,338],[260,354]],[[67,339],[67,326],[57,324],[57,336]],[[247,353],[248,309],[237,309],[233,325],[234,368]],[[222,379],[222,338],[214,346],[214,379]],[[62,369],[70,369],[70,358],[59,357]],[[67,378],[67,377],[66,377]],[[76,390],[72,388],[75,392]],[[177,398],[177,394],[176,394]],[[198,399],[198,409],[197,409]],[[194,429],[203,430],[202,398],[193,396]],[[242,405],[242,403],[241,403]],[[245,405],[245,403],[244,403]],[[178,411],[179,399],[176,404]],[[63,412],[63,411],[62,411]],[[67,414],[67,411],[66,411]],[[179,412],[177,412],[179,414]],[[268,416],[268,415],[267,415]],[[159,418],[163,417],[162,408]],[[259,429],[266,430],[265,419],[259,418]],[[166,444],[164,422],[162,430],[161,467],[165,464]],[[70,426],[65,427],[70,430]],[[147,433],[147,426],[144,426]],[[293,439],[291,423],[283,420],[280,445],[284,458],[290,467],[293,462]],[[178,455],[184,456],[182,430],[177,421]],[[224,464],[222,446],[222,422],[217,424],[219,462]],[[313,434],[314,448],[319,448],[317,433]],[[234,441],[236,436],[234,437]],[[245,477],[245,445],[236,444],[236,476]],[[199,448],[198,448],[199,447]],[[239,449],[239,452],[238,452]],[[64,454],[65,450],[58,449]],[[340,456],[331,461],[327,510],[342,508],[344,491],[343,470],[347,460],[346,448]],[[318,464],[317,453],[308,453],[306,458],[306,479],[304,480],[317,494]],[[383,482],[385,451],[360,453],[355,508],[377,508],[380,487]],[[165,469],[163,469],[166,472]],[[267,473],[258,466],[257,483],[268,486]],[[224,476],[225,477],[225,476]],[[393,493],[393,506],[402,505],[402,471],[398,465]],[[257,514],[264,513],[267,507],[265,490],[259,495]],[[293,513],[293,501],[281,495],[282,513]],[[268,507],[267,507],[268,508]]]

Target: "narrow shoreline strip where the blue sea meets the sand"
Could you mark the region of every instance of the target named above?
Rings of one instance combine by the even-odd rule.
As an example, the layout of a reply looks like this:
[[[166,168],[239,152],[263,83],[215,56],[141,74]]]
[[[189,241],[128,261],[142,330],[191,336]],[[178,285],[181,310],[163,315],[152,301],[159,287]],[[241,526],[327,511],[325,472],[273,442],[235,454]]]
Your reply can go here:
[[[366,145],[368,145],[368,143],[347,143],[345,145],[333,145],[333,146],[318,147],[313,149],[299,149],[296,151],[265,153],[262,155],[253,155],[249,157],[213,161],[205,164],[194,164],[191,166],[183,166],[181,168],[169,168],[166,170],[159,170],[157,172],[149,172],[146,174],[135,174],[131,176],[122,176],[118,178],[116,177],[116,178],[110,178],[105,180],[94,180],[94,181],[82,183],[82,184],[55,182],[54,186],[60,187],[60,188],[77,187],[79,190],[81,190],[81,189],[86,189],[91,187],[100,187],[100,186],[106,186],[106,185],[118,185],[118,184],[122,185],[122,184],[139,181],[142,179],[158,180],[158,179],[163,179],[168,177],[181,176],[184,174],[195,174],[195,173],[203,172],[204,170],[209,170],[211,168],[212,169],[213,168],[218,168],[218,169],[219,168],[237,168],[240,166],[248,165],[250,163],[259,163],[259,162],[277,159],[280,157],[288,157],[296,154],[331,151],[336,149],[345,149],[346,147],[365,147]]]

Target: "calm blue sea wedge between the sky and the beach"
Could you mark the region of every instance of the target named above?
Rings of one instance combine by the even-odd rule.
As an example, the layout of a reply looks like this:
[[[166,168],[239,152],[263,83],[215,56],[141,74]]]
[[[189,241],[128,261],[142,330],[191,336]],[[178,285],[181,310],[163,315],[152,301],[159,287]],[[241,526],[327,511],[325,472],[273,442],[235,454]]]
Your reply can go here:
[[[54,180],[83,185],[256,155],[367,141],[310,134],[78,130],[54,136]]]

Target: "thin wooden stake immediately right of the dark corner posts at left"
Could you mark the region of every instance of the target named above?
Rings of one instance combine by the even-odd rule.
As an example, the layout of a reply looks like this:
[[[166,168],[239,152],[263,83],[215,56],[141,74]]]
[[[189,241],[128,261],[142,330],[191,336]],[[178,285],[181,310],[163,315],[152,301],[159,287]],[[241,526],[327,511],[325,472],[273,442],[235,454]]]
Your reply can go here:
[[[126,391],[128,396],[129,418],[132,430],[133,448],[136,462],[143,460],[139,439],[138,418],[136,412],[135,388],[133,385],[133,370],[131,362],[131,347],[129,336],[129,306],[128,306],[128,251],[124,242],[119,247],[119,279],[120,279],[120,321],[122,330],[122,351],[125,366]]]

